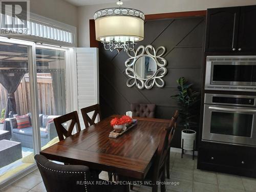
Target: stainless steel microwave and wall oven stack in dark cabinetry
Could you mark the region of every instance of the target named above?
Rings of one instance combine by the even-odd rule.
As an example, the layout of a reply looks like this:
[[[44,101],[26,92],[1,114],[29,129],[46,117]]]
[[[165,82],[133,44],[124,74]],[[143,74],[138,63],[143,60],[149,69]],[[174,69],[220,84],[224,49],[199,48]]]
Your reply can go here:
[[[208,56],[205,92],[202,140],[256,147],[256,56]]]

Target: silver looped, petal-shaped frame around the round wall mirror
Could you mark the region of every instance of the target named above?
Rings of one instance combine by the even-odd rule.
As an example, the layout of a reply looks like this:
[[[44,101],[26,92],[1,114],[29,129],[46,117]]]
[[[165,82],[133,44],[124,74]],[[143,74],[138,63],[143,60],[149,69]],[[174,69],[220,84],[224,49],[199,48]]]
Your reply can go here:
[[[126,82],[127,87],[131,88],[136,85],[139,89],[152,89],[156,84],[157,87],[164,87],[164,80],[162,79],[167,74],[167,69],[165,68],[167,65],[167,60],[162,56],[166,52],[164,47],[159,47],[157,50],[152,45],[139,46],[136,51],[127,51],[127,55],[129,55],[129,59],[125,61],[125,74],[129,77]],[[151,57],[156,62],[156,71],[154,74],[148,78],[141,78],[135,72],[136,61],[141,57]]]

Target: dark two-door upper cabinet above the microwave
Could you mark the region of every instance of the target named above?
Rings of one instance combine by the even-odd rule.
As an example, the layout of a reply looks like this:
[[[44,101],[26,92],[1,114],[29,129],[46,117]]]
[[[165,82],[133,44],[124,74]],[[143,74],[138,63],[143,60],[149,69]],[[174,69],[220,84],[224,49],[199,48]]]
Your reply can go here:
[[[256,6],[207,10],[205,52],[255,52]]]

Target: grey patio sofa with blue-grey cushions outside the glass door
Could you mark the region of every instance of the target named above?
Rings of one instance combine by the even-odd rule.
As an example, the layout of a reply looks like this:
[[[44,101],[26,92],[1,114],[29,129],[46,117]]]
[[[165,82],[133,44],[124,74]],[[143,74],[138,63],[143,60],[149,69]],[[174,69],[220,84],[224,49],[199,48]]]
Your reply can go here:
[[[30,124],[32,124],[31,113],[28,113],[28,115]],[[55,125],[53,121],[51,122],[51,120],[56,117],[59,116],[39,114],[41,146],[46,145],[53,138],[57,137]],[[22,146],[24,147],[33,148],[33,127],[29,126],[23,129],[17,129],[17,121],[15,117],[10,118],[10,124],[12,130],[12,140],[22,143]]]

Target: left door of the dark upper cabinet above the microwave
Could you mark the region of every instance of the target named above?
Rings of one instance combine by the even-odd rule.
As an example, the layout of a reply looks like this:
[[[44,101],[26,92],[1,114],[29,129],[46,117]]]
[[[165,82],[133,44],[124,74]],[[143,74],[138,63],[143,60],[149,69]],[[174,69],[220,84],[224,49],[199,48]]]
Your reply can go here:
[[[205,52],[237,50],[239,7],[207,10]]]

